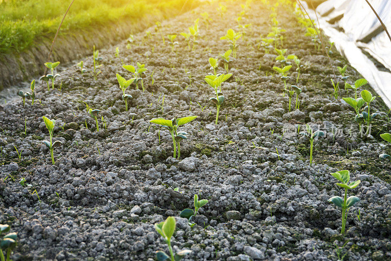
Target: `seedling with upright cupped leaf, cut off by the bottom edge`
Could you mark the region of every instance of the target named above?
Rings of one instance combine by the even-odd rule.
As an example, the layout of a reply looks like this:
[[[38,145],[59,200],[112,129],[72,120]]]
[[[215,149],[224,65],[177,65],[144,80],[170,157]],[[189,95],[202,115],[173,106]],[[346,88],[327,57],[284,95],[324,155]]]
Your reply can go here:
[[[166,240],[168,250],[170,251],[170,256],[161,250],[156,251],[156,259],[158,261],[179,261],[184,256],[192,252],[191,250],[182,250],[174,255],[173,248],[171,247],[171,237],[174,235],[175,227],[176,221],[173,216],[169,216],[165,221],[155,224],[155,230]]]

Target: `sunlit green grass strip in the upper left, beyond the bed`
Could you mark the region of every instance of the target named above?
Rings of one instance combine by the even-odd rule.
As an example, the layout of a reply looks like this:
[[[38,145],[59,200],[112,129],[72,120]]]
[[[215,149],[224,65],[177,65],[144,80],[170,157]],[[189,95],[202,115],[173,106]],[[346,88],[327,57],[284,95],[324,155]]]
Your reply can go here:
[[[54,37],[71,0],[0,0],[0,53],[20,52],[40,37]],[[75,0],[60,34],[108,23],[129,24],[153,15],[174,16],[186,0]],[[196,0],[189,0],[186,7]]]

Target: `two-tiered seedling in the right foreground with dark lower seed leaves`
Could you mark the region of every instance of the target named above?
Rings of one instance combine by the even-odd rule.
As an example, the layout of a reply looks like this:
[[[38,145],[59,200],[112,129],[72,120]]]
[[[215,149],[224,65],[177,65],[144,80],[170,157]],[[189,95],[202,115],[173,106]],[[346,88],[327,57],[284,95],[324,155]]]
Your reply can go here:
[[[342,229],[341,234],[345,234],[345,225],[346,225],[346,217],[348,209],[356,204],[360,199],[356,196],[348,196],[348,190],[352,190],[356,188],[360,184],[360,180],[356,180],[354,182],[349,183],[350,180],[350,172],[349,170],[340,170],[334,173],[331,173],[331,175],[339,180],[341,183],[337,183],[338,186],[345,189],[345,196],[344,199],[342,199],[340,196],[333,196],[330,197],[327,201],[330,203],[333,203],[334,205],[342,208]]]

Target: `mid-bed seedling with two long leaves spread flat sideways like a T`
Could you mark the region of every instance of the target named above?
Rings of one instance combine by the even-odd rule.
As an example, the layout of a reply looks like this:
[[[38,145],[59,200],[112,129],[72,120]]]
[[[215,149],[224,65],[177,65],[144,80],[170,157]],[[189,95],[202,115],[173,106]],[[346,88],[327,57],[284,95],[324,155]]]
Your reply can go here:
[[[171,137],[173,138],[174,143],[174,158],[176,158],[176,144],[178,144],[178,159],[180,157],[180,142],[182,140],[187,140],[187,135],[189,135],[187,132],[179,131],[177,132],[177,128],[181,125],[184,125],[186,123],[189,123],[190,121],[197,118],[197,116],[188,116],[184,118],[179,119],[163,119],[163,118],[157,118],[157,119],[151,119],[151,123],[156,123],[161,125],[162,127],[168,129],[170,131]]]

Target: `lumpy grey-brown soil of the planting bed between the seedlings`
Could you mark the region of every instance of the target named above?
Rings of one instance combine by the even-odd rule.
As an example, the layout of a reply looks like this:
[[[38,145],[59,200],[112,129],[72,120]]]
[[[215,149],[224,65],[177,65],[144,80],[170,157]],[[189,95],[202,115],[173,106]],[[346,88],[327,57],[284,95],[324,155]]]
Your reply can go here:
[[[0,106],[0,223],[18,233],[12,259],[152,261],[155,251],[168,252],[153,224],[171,215],[177,220],[174,252],[192,250],[184,260],[337,260],[339,253],[345,260],[391,260],[391,165],[378,157],[391,152],[379,136],[391,129],[383,101],[372,102],[380,115],[371,135],[361,137],[354,111],[331,96],[326,55],[304,36],[292,9],[280,5],[283,47],[304,64],[300,110],[288,112],[283,83],[272,70],[280,66],[276,55],[258,47],[271,28],[270,6],[254,1],[241,22],[252,25],[230,64],[233,76],[222,85],[216,125],[216,106],[208,101],[213,89],[204,76],[211,72],[208,58],[229,48],[219,38],[228,28],[238,30],[241,11],[237,1],[224,4],[222,18],[213,3],[162,23],[164,35],[178,34],[174,53],[149,28],[152,39],[135,35],[119,57],[115,47],[101,50],[97,80],[88,57],[83,76],[76,65],[62,72],[61,90],[59,82],[51,91],[37,83],[34,105],[18,100]],[[200,15],[205,11],[214,19],[208,29]],[[201,38],[194,51],[185,50],[179,33],[196,18]],[[337,71],[347,61],[332,52]],[[130,86],[126,112],[115,73],[130,78],[122,64],[136,62],[148,69],[146,91]],[[217,71],[223,70],[220,63]],[[348,75],[349,82],[360,78],[351,67]],[[341,96],[351,95],[342,88]],[[99,132],[84,102],[101,111],[106,125],[99,120]],[[189,115],[198,118],[180,127],[189,139],[181,142],[177,160],[169,132],[149,121]],[[56,119],[54,140],[63,142],[54,151],[55,166],[42,143],[48,139],[43,116]],[[325,132],[314,142],[312,166],[309,141],[298,134],[305,123]],[[361,201],[348,211],[345,237],[339,234],[341,210],[327,202],[343,196],[330,175],[342,169],[362,181],[349,191]],[[209,202],[191,227],[179,213],[193,207],[194,194]]]

